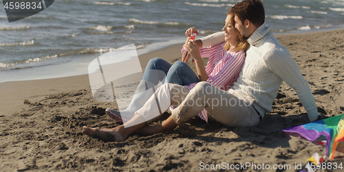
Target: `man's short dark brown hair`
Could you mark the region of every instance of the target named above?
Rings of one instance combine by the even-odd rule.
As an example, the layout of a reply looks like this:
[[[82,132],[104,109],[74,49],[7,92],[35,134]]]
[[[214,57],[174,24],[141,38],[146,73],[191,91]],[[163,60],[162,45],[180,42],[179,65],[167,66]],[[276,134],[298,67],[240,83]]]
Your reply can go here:
[[[259,27],[265,21],[264,6],[259,0],[241,1],[235,4],[231,11],[240,19],[242,23],[248,19],[253,23],[253,25]]]

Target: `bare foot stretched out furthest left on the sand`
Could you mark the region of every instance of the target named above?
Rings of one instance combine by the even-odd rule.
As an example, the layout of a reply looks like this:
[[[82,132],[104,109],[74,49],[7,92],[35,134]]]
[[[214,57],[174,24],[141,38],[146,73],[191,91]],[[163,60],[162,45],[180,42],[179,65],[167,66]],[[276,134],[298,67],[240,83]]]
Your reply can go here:
[[[98,128],[92,128],[92,127],[83,127],[83,131],[81,131],[83,134],[87,134],[92,137],[100,138],[104,141],[124,141],[127,139],[127,136],[120,134],[119,128],[112,128],[112,129],[98,129]]]

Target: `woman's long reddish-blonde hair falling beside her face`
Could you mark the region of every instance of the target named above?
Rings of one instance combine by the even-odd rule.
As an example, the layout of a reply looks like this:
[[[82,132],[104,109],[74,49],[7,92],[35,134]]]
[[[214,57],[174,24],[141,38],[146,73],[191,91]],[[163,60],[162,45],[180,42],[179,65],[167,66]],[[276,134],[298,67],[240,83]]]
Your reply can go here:
[[[239,52],[239,51],[244,51],[246,52],[246,50],[248,49],[248,46],[250,46],[250,44],[248,43],[248,41],[246,39],[243,39],[241,33],[239,32],[239,30],[237,30],[237,28],[235,28],[235,21],[234,21],[234,14],[233,12],[229,11],[227,13],[227,15],[232,15],[232,17],[230,17],[230,24],[233,26],[235,34],[237,34],[237,36],[239,36],[237,43],[235,44],[235,47],[230,50],[230,45],[229,42],[226,42],[226,45],[224,45],[224,50],[230,50],[232,52]]]

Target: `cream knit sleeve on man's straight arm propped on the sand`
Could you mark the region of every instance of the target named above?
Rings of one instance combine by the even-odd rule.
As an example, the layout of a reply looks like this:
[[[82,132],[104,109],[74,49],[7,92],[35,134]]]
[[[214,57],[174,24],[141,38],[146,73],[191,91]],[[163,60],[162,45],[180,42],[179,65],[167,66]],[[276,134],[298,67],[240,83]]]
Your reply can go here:
[[[307,111],[310,121],[318,118],[314,96],[303,78],[299,66],[286,48],[275,47],[264,56],[267,67],[275,72],[282,80],[292,87],[299,96],[303,107]]]

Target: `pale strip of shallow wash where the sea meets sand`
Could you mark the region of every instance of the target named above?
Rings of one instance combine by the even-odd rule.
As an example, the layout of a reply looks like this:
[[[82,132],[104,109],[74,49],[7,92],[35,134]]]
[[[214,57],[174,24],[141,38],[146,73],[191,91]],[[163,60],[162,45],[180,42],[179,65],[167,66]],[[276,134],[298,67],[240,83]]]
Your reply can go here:
[[[298,34],[312,34],[312,33],[319,33],[319,32],[332,32],[336,30],[344,30],[343,28],[332,28],[332,29],[323,29],[323,30],[312,30],[312,32],[307,32],[306,30],[299,30],[299,32],[274,32],[275,37],[278,38],[280,36],[292,36],[292,35],[298,35]],[[138,56],[144,56],[144,54],[149,54],[151,52],[160,51],[164,49],[168,49],[168,47],[184,43],[184,37],[180,37],[178,39],[173,39],[165,42],[159,42],[159,43],[152,43],[150,45],[147,45],[146,47],[142,49],[136,50],[138,52]],[[174,53],[174,52],[171,52]],[[65,56],[61,58],[68,58],[72,57],[74,60],[70,60],[65,63],[61,64],[50,64],[50,65],[43,65],[39,67],[26,67],[24,69],[10,69],[10,70],[4,70],[0,71],[2,80],[0,80],[1,83],[8,83],[13,81],[25,81],[25,80],[42,80],[42,79],[51,79],[51,78],[65,78],[65,77],[71,77],[71,76],[82,76],[87,73],[87,64],[89,64],[94,58],[100,56],[102,54],[76,54],[73,56]],[[163,58],[163,57],[162,57]],[[52,58],[47,61],[61,61],[61,59]],[[45,61],[40,61],[39,63],[44,63]],[[142,69],[144,69],[145,65],[142,65]],[[75,69],[74,69],[75,68]],[[62,70],[61,70],[62,69]],[[15,72],[12,74],[12,72]],[[58,72],[63,71],[61,74],[58,74]],[[70,74],[72,73],[72,74]],[[8,74],[8,75],[6,75]],[[32,78],[25,78],[23,75],[25,74],[32,74]],[[49,76],[47,76],[49,75]],[[3,78],[8,78],[8,80],[3,80]],[[14,78],[14,79],[13,79]]]

